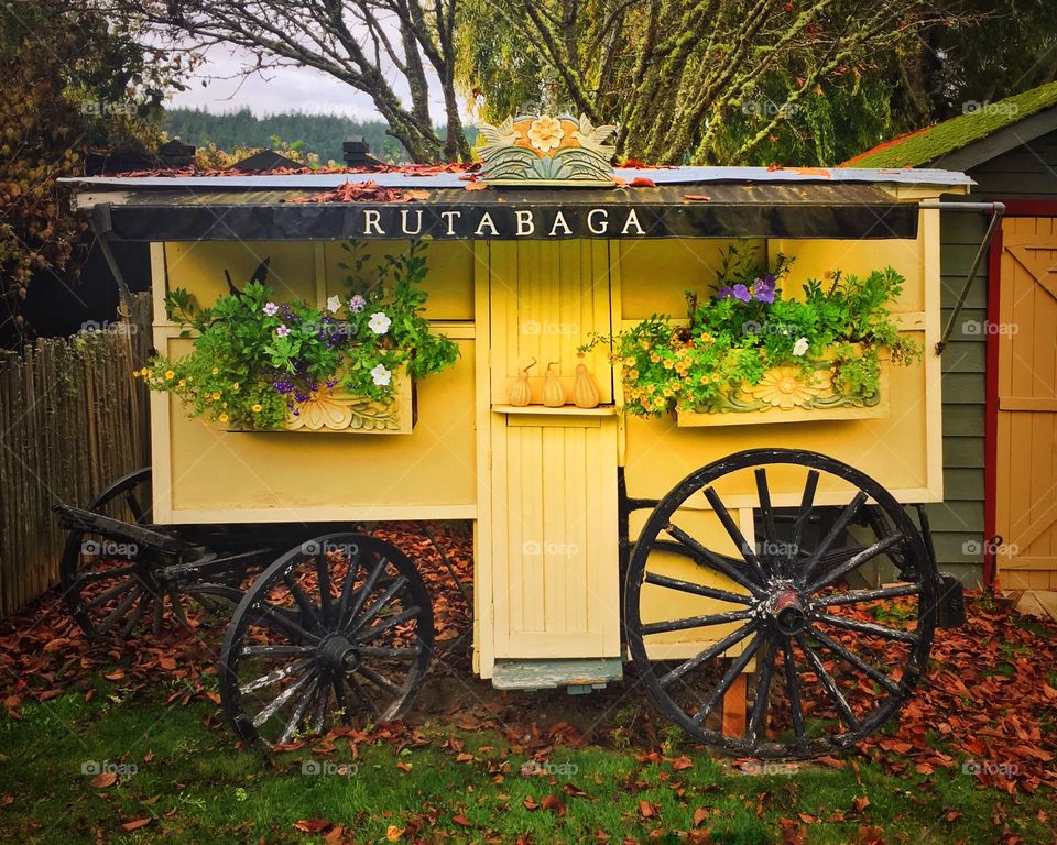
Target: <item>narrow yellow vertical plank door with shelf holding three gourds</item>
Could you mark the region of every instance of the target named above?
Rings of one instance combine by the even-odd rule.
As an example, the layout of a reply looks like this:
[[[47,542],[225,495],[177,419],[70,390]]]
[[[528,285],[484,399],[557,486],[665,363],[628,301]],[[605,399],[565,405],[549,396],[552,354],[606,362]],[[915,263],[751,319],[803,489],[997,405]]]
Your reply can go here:
[[[495,242],[490,253],[491,569],[495,657],[617,657],[617,417],[608,347],[577,347],[610,333],[604,242]],[[510,407],[510,385],[528,369],[533,404]],[[601,406],[571,405],[576,366],[592,373]],[[542,405],[544,374],[569,404]]]

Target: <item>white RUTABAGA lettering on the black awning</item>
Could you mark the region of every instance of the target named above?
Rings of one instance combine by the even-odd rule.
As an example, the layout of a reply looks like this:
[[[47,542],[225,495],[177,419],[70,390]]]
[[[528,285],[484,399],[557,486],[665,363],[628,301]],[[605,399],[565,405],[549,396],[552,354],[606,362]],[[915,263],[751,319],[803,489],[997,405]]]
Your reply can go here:
[[[669,234],[664,209],[643,206],[350,207],[353,238],[643,238]],[[348,227],[348,221],[346,223]]]

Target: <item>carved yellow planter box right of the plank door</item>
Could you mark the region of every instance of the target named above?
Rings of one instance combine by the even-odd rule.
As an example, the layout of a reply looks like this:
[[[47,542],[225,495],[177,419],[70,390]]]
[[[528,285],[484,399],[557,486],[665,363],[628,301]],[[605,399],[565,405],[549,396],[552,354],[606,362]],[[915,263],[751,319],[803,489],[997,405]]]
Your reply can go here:
[[[767,370],[759,384],[742,386],[721,400],[694,411],[676,411],[680,428],[745,426],[814,420],[880,419],[889,416],[889,370],[886,350],[880,353],[880,387],[872,396],[841,393],[833,378],[833,355],[809,362],[813,374],[805,376],[797,365]]]

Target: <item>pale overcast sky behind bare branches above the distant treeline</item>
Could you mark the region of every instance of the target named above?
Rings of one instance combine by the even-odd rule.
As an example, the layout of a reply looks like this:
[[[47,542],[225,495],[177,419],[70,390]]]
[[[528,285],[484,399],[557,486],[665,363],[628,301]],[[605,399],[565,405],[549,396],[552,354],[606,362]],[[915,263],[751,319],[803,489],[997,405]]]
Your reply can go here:
[[[247,62],[246,54],[217,45],[210,48],[207,64],[196,78],[187,80],[189,89],[176,92],[170,103],[174,107],[199,108],[211,112],[236,111],[248,107],[254,114],[279,111],[303,111],[319,114],[344,114],[358,120],[381,120],[371,98],[331,76],[307,67],[282,67],[246,79],[213,79],[203,87],[206,76],[238,77]],[[403,79],[394,74],[392,83]],[[397,85],[397,94],[403,85]],[[443,118],[443,101],[435,98],[434,120]]]

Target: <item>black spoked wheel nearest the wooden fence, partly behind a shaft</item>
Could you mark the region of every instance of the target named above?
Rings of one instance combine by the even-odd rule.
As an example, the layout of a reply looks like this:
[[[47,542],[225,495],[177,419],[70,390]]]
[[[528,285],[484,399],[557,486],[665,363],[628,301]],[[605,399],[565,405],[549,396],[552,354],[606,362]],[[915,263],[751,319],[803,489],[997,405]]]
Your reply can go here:
[[[119,479],[87,509],[126,523],[150,525],[150,468]],[[126,538],[72,530],[59,560],[63,600],[85,634],[100,640],[127,639],[145,628],[157,634],[170,619],[193,628],[201,621],[229,616],[242,597],[240,591],[226,584],[196,583],[177,590],[161,581],[161,566],[151,549]]]

